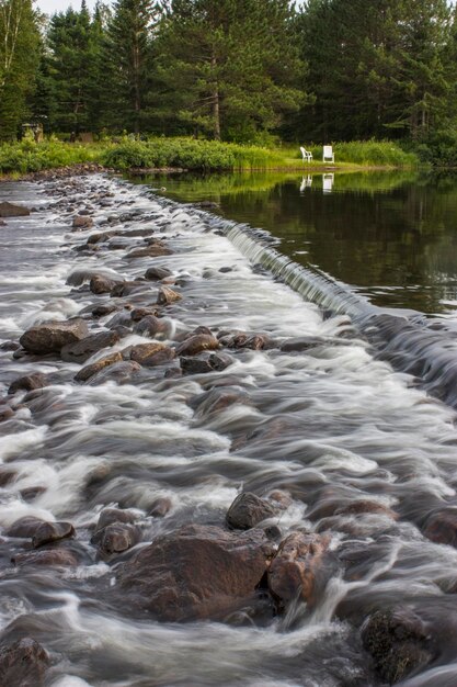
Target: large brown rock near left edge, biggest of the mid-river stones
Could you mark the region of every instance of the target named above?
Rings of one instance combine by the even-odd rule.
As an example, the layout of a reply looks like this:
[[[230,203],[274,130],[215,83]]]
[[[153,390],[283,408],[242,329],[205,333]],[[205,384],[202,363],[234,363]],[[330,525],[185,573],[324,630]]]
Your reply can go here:
[[[47,322],[27,329],[20,338],[20,344],[31,353],[54,353],[68,344],[83,339],[88,333],[88,325],[83,319]]]

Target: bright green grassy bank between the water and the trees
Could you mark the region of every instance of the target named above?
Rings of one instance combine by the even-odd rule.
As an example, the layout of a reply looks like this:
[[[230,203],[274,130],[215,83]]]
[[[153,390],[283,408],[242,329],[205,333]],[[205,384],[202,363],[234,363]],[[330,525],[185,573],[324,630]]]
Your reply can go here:
[[[322,147],[310,146],[311,168],[322,167]],[[418,158],[389,142],[354,142],[334,146],[335,166],[414,167]],[[83,162],[96,162],[127,171],[130,169],[187,169],[192,171],[297,170],[302,168],[299,147],[267,149],[256,146],[155,138],[148,142],[90,145],[48,140],[24,140],[0,146],[0,173],[25,174]],[[308,165],[306,166],[308,167]]]

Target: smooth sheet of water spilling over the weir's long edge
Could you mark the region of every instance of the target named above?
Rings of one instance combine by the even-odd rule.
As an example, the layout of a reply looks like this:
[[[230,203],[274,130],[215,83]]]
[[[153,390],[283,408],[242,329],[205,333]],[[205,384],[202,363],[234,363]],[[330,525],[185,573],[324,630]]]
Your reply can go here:
[[[429,319],[416,311],[373,305],[321,270],[302,267],[278,252],[266,232],[226,219],[213,219],[215,228],[251,262],[322,309],[350,316],[379,359],[412,374],[429,393],[457,408],[457,328],[453,328],[452,323]]]

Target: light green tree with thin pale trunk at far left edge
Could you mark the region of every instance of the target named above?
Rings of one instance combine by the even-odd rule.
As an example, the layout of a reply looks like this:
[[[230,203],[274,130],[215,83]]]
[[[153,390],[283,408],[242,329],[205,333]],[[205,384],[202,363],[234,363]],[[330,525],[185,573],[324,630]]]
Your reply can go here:
[[[0,0],[0,139],[15,138],[35,88],[39,30],[31,0]]]

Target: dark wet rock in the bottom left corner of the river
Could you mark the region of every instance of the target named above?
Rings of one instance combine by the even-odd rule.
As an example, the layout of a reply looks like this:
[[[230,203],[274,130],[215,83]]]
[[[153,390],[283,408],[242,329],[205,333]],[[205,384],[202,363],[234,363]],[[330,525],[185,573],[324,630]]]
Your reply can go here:
[[[0,685],[4,687],[41,687],[49,656],[38,642],[24,638],[0,649]]]

